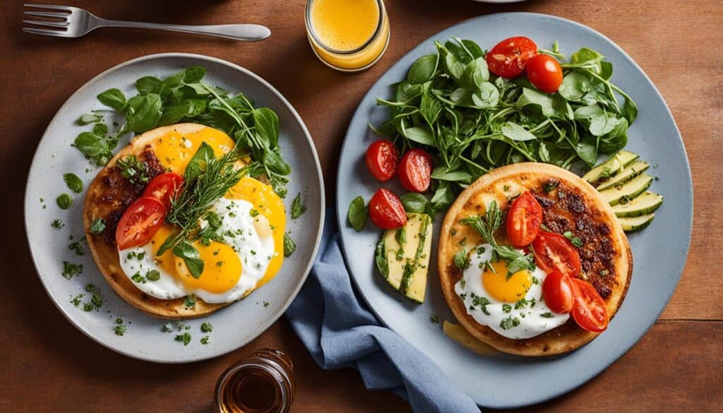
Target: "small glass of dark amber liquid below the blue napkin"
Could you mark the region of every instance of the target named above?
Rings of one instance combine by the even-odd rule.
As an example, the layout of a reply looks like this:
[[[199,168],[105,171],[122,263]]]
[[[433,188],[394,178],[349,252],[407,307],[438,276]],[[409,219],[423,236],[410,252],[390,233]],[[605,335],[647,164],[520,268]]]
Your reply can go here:
[[[253,352],[216,383],[216,413],[284,413],[294,401],[294,365],[273,349]]]

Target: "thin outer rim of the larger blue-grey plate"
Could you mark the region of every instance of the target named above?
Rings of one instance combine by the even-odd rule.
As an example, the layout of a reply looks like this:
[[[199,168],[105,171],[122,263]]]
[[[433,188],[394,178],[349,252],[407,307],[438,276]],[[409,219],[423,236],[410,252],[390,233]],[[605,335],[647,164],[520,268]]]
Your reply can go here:
[[[648,83],[648,85],[652,88],[654,94],[656,95],[656,98],[658,98],[660,101],[662,101],[663,106],[664,106],[665,114],[667,114],[667,116],[669,116],[669,118],[672,120],[673,126],[675,127],[675,133],[677,133],[677,143],[680,144],[680,148],[683,150],[683,155],[684,155],[684,160],[685,160],[685,174],[686,174],[686,176],[688,177],[688,183],[689,183],[687,190],[685,190],[685,196],[689,197],[689,199],[690,199],[690,205],[689,205],[689,211],[690,211],[690,213],[688,213],[687,216],[685,216],[685,218],[687,218],[687,219],[686,219],[686,224],[687,224],[687,226],[688,226],[688,237],[686,237],[686,239],[685,239],[685,253],[683,254],[684,257],[685,257],[685,262],[687,262],[687,260],[688,260],[688,254],[689,254],[689,252],[690,252],[690,241],[691,241],[691,237],[692,237],[692,234],[693,234],[694,197],[693,197],[693,179],[692,179],[692,174],[691,174],[691,171],[690,171],[690,159],[688,158],[688,151],[685,149],[685,142],[683,141],[683,135],[681,135],[681,133],[680,133],[680,128],[678,128],[677,122],[675,122],[675,116],[672,115],[672,112],[670,111],[670,108],[669,108],[667,102],[666,102],[665,99],[663,98],[663,95],[660,93],[660,91],[658,90],[658,88],[656,87],[656,85],[654,84],[654,82],[650,79],[650,77],[648,76],[648,74],[646,74],[646,72],[640,67],[640,65],[638,65],[637,61],[635,61],[632,57],[630,57],[630,55],[628,55],[628,53],[625,52],[625,50],[624,50],[623,48],[621,48],[620,46],[618,46],[617,43],[615,43],[615,41],[612,41],[612,39],[608,38],[607,35],[604,35],[604,34],[600,33],[598,30],[595,30],[595,29],[592,28],[592,27],[589,27],[589,26],[587,26],[587,25],[583,25],[582,23],[575,22],[575,21],[573,21],[573,20],[565,19],[564,17],[556,16],[556,15],[554,15],[554,14],[534,13],[534,12],[499,12],[499,13],[489,13],[489,14],[482,14],[482,15],[479,15],[479,16],[471,17],[471,18],[469,18],[469,19],[461,20],[460,22],[456,22],[456,23],[453,24],[453,25],[450,25],[450,26],[447,26],[447,27],[442,28],[442,30],[438,30],[438,31],[435,32],[434,34],[430,35],[429,37],[424,38],[422,41],[419,41],[419,43],[417,43],[415,46],[413,46],[412,48],[408,49],[408,51],[407,51],[405,54],[403,54],[403,56],[401,56],[397,61],[395,61],[394,64],[392,64],[390,67],[388,67],[388,69],[386,69],[384,73],[380,74],[380,77],[377,79],[377,81],[374,82],[374,83],[369,87],[369,90],[367,90],[367,93],[364,94],[364,96],[363,96],[363,97],[361,98],[361,100],[359,101],[359,105],[358,105],[358,106],[356,107],[356,109],[354,110],[354,114],[352,114],[351,119],[353,120],[353,119],[356,118],[356,116],[358,116],[358,115],[361,114],[361,111],[362,111],[362,103],[364,103],[364,101],[367,100],[367,97],[369,96],[369,93],[371,93],[371,91],[372,91],[373,89],[377,88],[377,85],[380,85],[380,84],[381,84],[382,78],[385,77],[385,75],[386,75],[388,72],[390,72],[391,70],[396,69],[396,68],[401,64],[401,60],[405,59],[407,56],[409,56],[410,54],[414,53],[414,51],[416,51],[416,49],[419,48],[419,47],[422,45],[422,43],[427,43],[428,41],[435,40],[435,38],[439,37],[441,33],[446,32],[446,31],[452,29],[453,27],[457,27],[457,26],[459,26],[459,25],[463,25],[463,24],[468,23],[468,22],[473,22],[474,20],[484,20],[484,19],[486,19],[486,18],[489,19],[489,18],[492,18],[492,17],[504,19],[504,18],[514,18],[514,17],[518,17],[518,16],[525,16],[525,17],[530,17],[530,18],[534,18],[534,19],[551,19],[551,20],[557,20],[558,22],[562,22],[562,23],[564,23],[564,24],[566,24],[566,25],[574,26],[574,27],[576,27],[576,28],[578,28],[578,29],[581,29],[581,30],[584,30],[584,31],[588,31],[588,32],[591,32],[592,34],[594,34],[594,35],[596,35],[596,36],[599,36],[599,38],[602,38],[602,40],[605,41],[605,42],[607,42],[607,43],[609,44],[609,46],[611,46],[612,48],[614,48],[618,53],[622,54],[623,57],[625,57],[625,59],[628,59],[628,61],[630,62],[630,64],[633,66],[633,69],[635,69],[637,72],[639,72],[640,74],[643,75],[643,78],[646,80],[646,82]],[[352,134],[352,131],[351,131],[351,120],[350,120],[350,122],[349,122],[349,127],[348,127],[347,130],[346,130],[346,135],[344,136],[344,140],[343,140],[343,142],[342,142],[341,152],[340,152],[340,154],[339,154],[339,159],[340,159],[340,160],[341,160],[342,154],[343,154],[343,152],[344,152],[344,150],[345,150],[347,140],[353,139],[353,137],[351,137],[351,135],[353,135],[353,134]],[[347,267],[349,267],[349,265],[348,265],[348,258],[346,257],[346,246],[345,246],[345,244],[344,244],[344,237],[343,237],[343,234],[342,234],[342,231],[341,231],[341,229],[342,229],[342,228],[345,226],[345,224],[346,224],[346,215],[343,215],[343,213],[341,213],[341,212],[343,211],[343,205],[341,205],[341,195],[340,195],[340,194],[341,194],[340,188],[341,188],[342,182],[341,182],[341,179],[340,179],[341,174],[339,173],[339,169],[341,169],[341,167],[342,167],[342,166],[341,166],[341,162],[340,162],[340,163],[339,163],[339,166],[338,166],[338,168],[337,168],[336,187],[335,187],[335,191],[336,191],[336,192],[335,192],[335,202],[336,202],[336,204],[337,204],[337,205],[336,205],[336,218],[337,218],[338,228],[340,229],[340,237],[339,237],[339,239],[340,239],[340,242],[341,242],[342,257],[343,257],[343,260],[344,260],[345,265],[347,265]],[[685,268],[685,262],[683,263],[683,267],[682,267],[683,269]],[[354,282],[355,288],[359,291],[359,296],[361,296],[361,299],[364,300],[364,303],[367,305],[367,307],[369,307],[369,310],[372,311],[372,313],[375,315],[375,317],[377,318],[377,320],[379,320],[382,325],[384,325],[386,328],[389,328],[389,329],[392,330],[392,331],[395,331],[393,328],[391,328],[391,327],[388,325],[388,323],[385,322],[385,320],[379,315],[379,313],[377,313],[377,310],[375,310],[375,307],[372,305],[372,303],[370,303],[370,302],[367,300],[367,296],[364,294],[363,290],[362,290],[361,287],[359,286],[359,283],[356,281],[356,276],[354,276],[354,271],[349,271],[349,273],[350,273],[350,278],[351,278],[351,280]],[[532,399],[531,401],[527,401],[527,402],[523,402],[523,403],[514,403],[514,404],[500,404],[500,403],[494,403],[494,404],[493,404],[493,403],[490,403],[490,404],[485,404],[484,407],[492,408],[492,409],[514,409],[514,408],[523,407],[523,406],[531,406],[531,405],[534,405],[534,404],[542,403],[542,402],[544,402],[544,401],[549,401],[549,400],[551,400],[551,399],[555,399],[556,397],[562,396],[562,395],[564,395],[564,394],[566,394],[566,393],[569,393],[570,391],[575,390],[576,388],[579,388],[580,386],[583,386],[583,384],[589,382],[590,380],[592,380],[593,378],[595,378],[597,375],[599,375],[600,373],[602,373],[604,370],[607,370],[607,368],[608,368],[609,366],[611,366],[611,365],[613,365],[615,362],[617,362],[617,361],[620,359],[620,357],[623,357],[623,355],[624,355],[625,353],[629,352],[630,349],[633,349],[633,346],[636,346],[636,344],[638,344],[638,342],[643,338],[643,336],[645,336],[645,334],[649,331],[649,329],[650,329],[653,325],[655,325],[656,321],[658,320],[658,318],[660,317],[660,315],[662,314],[662,312],[665,310],[665,307],[667,307],[667,305],[668,305],[668,303],[670,302],[670,299],[671,299],[671,297],[672,297],[672,294],[675,293],[675,290],[677,289],[677,284],[680,283],[680,278],[682,278],[682,277],[683,277],[683,272],[681,271],[681,272],[678,274],[678,276],[677,276],[677,278],[676,278],[676,280],[675,280],[675,283],[672,285],[672,288],[671,288],[669,291],[667,291],[667,294],[665,294],[665,295],[667,296],[666,301],[665,301],[665,304],[663,305],[663,307],[661,308],[661,310],[657,312],[656,318],[655,318],[655,320],[653,321],[653,323],[651,323],[650,325],[646,326],[646,328],[643,328],[643,329],[639,332],[638,336],[637,336],[636,339],[633,341],[633,344],[632,344],[628,349],[625,349],[625,350],[620,351],[620,352],[615,352],[615,357],[613,357],[610,362],[604,362],[604,364],[600,366],[599,370],[594,371],[592,374],[589,374],[589,373],[588,373],[588,374],[586,375],[586,377],[583,378],[583,380],[580,380],[580,381],[579,381],[579,383],[573,383],[573,384],[570,385],[570,386],[564,386],[564,387],[562,387],[562,388],[558,388],[556,391],[554,391],[554,392],[552,392],[552,393],[547,393],[547,394],[545,394],[544,396],[542,396],[542,397],[537,397],[536,399]],[[397,332],[395,331],[395,333],[397,333]],[[398,333],[398,334],[399,334],[399,333]],[[399,335],[401,336],[401,334],[399,334]],[[404,338],[404,337],[402,336],[402,338]],[[405,340],[406,340],[406,339],[405,339]],[[408,340],[407,340],[407,341],[408,341]],[[411,344],[411,343],[409,343],[409,344]],[[414,344],[411,344],[411,345],[414,345]],[[595,370],[595,369],[593,369],[593,370]],[[469,396],[469,395],[468,395],[468,396]],[[471,397],[471,396],[470,396],[470,397]],[[473,399],[474,399],[474,398],[473,398]],[[476,402],[476,400],[475,400],[475,402]],[[483,406],[483,405],[481,405],[481,404],[478,404],[478,405],[479,405],[479,406]]]

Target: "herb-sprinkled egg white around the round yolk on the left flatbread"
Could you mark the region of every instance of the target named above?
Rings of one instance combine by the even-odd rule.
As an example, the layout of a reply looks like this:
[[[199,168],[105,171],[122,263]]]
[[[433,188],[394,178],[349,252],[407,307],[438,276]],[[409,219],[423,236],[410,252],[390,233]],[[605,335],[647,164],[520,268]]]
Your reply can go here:
[[[244,297],[244,294],[254,289],[263,278],[275,255],[273,235],[271,231],[263,230],[264,225],[268,226],[268,223],[260,222],[265,220],[263,216],[252,216],[254,206],[247,200],[222,197],[212,208],[221,218],[218,234],[221,234],[223,243],[233,248],[241,260],[241,277],[235,286],[218,294],[203,289],[189,289],[179,278],[158,265],[150,242],[140,247],[119,251],[121,268],[126,276],[133,281],[133,276],[140,274],[143,277],[142,281],[133,281],[133,284],[158,299],[177,299],[195,294],[208,303],[223,303]],[[208,223],[201,222],[200,225],[205,226]],[[150,270],[158,271],[161,278],[157,281],[145,279],[145,275]]]

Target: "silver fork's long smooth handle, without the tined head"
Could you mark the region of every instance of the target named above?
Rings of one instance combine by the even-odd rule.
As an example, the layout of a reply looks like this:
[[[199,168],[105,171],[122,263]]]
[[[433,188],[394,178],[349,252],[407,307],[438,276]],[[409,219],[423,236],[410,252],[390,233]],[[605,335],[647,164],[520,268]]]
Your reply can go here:
[[[262,25],[166,25],[163,23],[124,22],[98,18],[98,27],[134,27],[141,29],[169,30],[171,32],[212,35],[237,41],[260,41],[271,35]]]

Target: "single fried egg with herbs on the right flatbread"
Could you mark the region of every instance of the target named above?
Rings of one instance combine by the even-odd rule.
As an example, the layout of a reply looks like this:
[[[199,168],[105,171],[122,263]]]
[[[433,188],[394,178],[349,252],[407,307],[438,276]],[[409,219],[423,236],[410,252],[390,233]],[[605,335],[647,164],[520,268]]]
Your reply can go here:
[[[542,297],[547,276],[540,268],[522,270],[508,278],[503,260],[492,262],[492,246],[482,244],[469,255],[469,266],[455,284],[467,314],[509,339],[529,339],[564,324],[570,315],[557,314]]]

